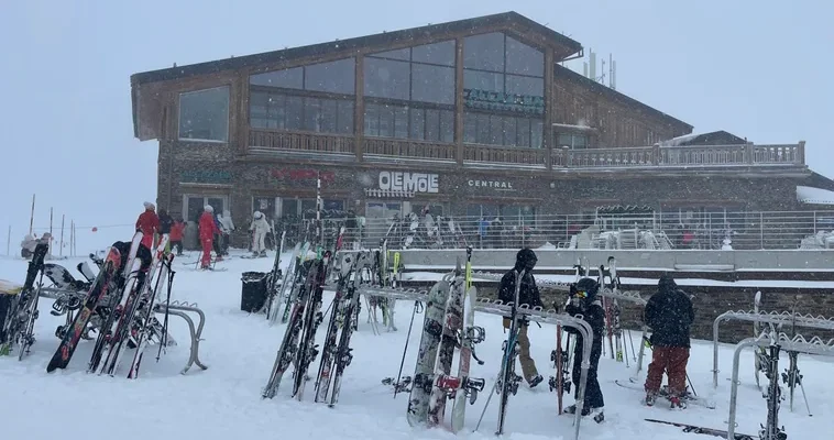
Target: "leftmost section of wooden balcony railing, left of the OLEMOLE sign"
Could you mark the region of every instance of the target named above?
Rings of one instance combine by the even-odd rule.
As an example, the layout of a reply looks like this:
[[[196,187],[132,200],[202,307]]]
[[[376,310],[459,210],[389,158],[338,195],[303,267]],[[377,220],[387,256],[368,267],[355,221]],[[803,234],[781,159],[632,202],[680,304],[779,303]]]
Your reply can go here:
[[[250,130],[249,146],[309,153],[353,154],[353,136],[292,131]]]

